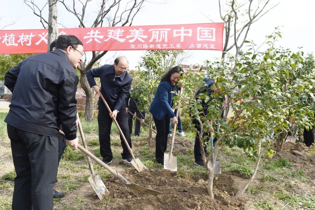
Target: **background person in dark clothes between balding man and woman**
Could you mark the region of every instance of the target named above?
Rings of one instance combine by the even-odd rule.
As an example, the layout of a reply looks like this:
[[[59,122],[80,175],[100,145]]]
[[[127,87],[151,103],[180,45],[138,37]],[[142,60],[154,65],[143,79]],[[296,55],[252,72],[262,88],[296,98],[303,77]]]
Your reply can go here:
[[[130,92],[132,92],[132,91],[133,90],[131,89]],[[134,118],[133,114],[136,113],[137,118],[141,119],[141,121],[136,119],[135,136],[140,136],[140,128],[141,128],[141,124],[144,123],[144,119],[146,117],[146,112],[145,111],[142,111],[142,112],[139,111],[139,109],[137,107],[138,99],[136,99],[134,97],[130,97],[130,92],[127,94],[127,98],[126,98],[126,112],[128,114],[129,132],[130,132],[130,134],[132,134],[132,120]],[[133,114],[129,113],[128,111],[133,113]]]

